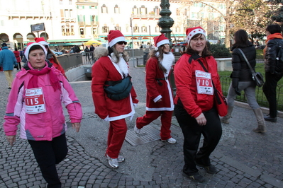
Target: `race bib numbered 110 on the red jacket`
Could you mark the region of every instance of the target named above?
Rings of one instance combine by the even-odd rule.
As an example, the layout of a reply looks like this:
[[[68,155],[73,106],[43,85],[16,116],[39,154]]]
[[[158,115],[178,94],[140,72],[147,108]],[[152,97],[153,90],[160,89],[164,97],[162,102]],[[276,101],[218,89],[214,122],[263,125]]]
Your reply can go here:
[[[196,88],[199,94],[213,95],[211,74],[196,70]]]

